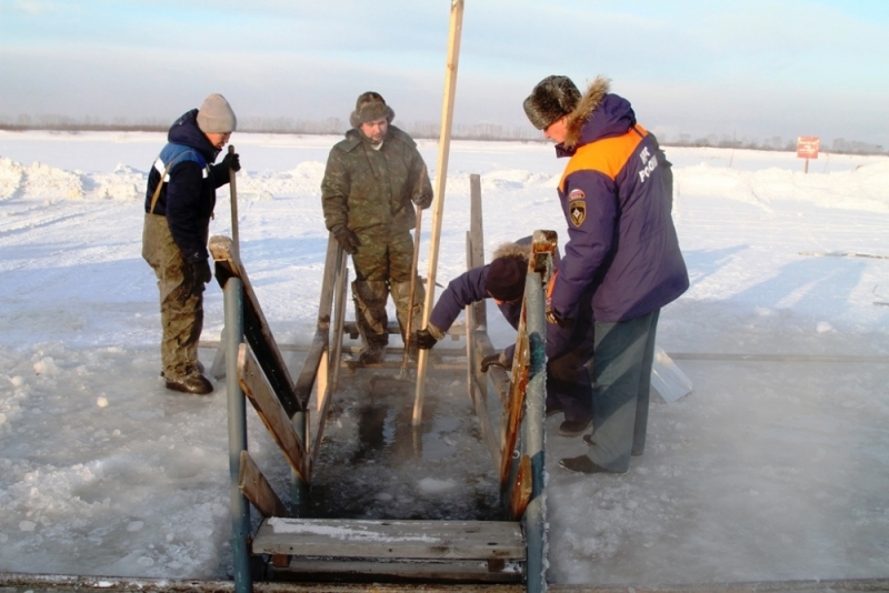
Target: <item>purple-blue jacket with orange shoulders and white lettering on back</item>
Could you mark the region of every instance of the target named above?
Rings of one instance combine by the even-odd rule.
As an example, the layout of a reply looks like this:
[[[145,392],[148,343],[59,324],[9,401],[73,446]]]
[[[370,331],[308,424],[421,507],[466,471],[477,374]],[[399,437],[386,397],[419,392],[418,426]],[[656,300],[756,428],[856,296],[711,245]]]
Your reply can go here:
[[[577,316],[592,290],[596,321],[635,319],[677,299],[689,285],[673,227],[672,175],[657,140],[636,123],[630,103],[597,79],[569,114],[558,157],[568,222],[552,310]],[[669,187],[665,178],[669,179]]]

